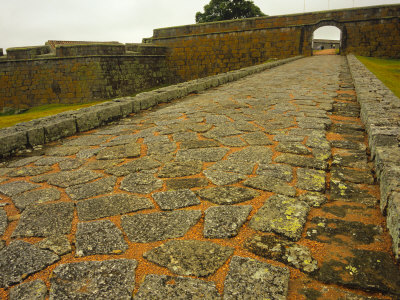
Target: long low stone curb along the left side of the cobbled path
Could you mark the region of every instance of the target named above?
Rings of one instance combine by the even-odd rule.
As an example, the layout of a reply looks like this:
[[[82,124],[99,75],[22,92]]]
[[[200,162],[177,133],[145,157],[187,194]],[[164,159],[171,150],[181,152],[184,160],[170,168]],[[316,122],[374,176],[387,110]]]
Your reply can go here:
[[[50,117],[23,122],[0,130],[0,156],[5,157],[20,149],[42,145],[78,132],[88,131],[126,117],[131,113],[148,109],[158,103],[170,102],[173,99],[185,97],[190,93],[201,92],[208,88],[235,81],[245,76],[289,63],[301,57],[296,56],[251,66],[171,85],[151,92],[140,93],[135,97],[117,98],[77,111],[68,111]]]

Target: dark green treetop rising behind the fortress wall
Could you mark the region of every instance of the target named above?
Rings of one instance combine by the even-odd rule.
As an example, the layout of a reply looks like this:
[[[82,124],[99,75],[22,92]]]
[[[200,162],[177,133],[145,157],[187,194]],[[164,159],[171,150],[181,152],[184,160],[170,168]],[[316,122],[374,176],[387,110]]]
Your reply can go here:
[[[204,13],[196,13],[196,23],[262,17],[265,14],[251,0],[211,0]]]

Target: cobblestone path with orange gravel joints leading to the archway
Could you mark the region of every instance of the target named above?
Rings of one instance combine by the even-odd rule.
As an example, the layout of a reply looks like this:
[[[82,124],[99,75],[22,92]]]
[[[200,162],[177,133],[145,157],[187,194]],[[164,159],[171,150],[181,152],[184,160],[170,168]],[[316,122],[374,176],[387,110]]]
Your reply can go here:
[[[339,56],[53,143],[0,169],[0,295],[398,299],[368,151]]]

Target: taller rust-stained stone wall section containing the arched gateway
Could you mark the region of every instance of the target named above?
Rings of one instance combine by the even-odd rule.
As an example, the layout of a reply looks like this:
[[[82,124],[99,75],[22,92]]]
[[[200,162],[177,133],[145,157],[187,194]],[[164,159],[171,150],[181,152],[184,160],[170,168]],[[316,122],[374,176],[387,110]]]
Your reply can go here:
[[[167,58],[181,80],[266,61],[312,55],[322,26],[342,31],[342,54],[400,57],[400,5],[332,10],[195,24],[154,30],[145,43],[170,48]]]

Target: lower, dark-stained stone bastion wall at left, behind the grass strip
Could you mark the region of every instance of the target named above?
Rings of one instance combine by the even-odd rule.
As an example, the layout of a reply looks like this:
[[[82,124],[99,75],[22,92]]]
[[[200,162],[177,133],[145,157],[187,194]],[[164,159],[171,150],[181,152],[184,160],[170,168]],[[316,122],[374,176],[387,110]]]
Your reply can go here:
[[[60,46],[56,55],[44,48],[10,49],[0,60],[0,110],[110,99],[173,81],[165,55],[124,45]]]

